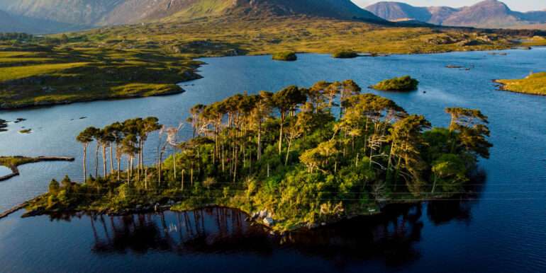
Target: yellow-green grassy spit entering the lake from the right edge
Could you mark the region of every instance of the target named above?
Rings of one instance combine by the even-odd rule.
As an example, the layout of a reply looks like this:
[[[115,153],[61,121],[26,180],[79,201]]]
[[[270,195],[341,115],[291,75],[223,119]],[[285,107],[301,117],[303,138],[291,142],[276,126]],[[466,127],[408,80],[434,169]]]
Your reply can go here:
[[[531,74],[525,79],[494,80],[501,83],[499,90],[533,95],[546,95],[546,72]]]

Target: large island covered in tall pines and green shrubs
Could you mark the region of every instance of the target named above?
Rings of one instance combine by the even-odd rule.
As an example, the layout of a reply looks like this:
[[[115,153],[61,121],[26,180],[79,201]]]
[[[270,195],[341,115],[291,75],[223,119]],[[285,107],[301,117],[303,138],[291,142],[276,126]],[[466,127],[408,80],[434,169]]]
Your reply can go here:
[[[155,117],[88,127],[74,136],[82,177],[51,180],[23,216],[221,206],[283,232],[378,214],[386,204],[459,198],[479,158],[489,158],[488,120],[479,110],[445,111],[450,124],[432,128],[355,81],[320,81],[195,105],[187,141]],[[143,163],[147,145],[157,146],[152,165]],[[167,151],[175,156],[165,159]]]

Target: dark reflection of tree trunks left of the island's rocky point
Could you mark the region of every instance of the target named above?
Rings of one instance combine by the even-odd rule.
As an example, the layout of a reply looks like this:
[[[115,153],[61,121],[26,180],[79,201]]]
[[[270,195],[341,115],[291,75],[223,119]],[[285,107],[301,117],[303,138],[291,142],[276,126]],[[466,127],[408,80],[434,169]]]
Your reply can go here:
[[[267,233],[250,226],[245,215],[233,209],[88,217],[95,239],[92,251],[98,254],[271,252]]]

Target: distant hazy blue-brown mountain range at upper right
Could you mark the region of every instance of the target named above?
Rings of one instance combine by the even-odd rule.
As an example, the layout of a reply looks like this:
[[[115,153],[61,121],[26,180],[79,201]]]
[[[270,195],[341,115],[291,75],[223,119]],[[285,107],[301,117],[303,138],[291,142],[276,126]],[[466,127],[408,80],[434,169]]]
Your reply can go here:
[[[496,0],[481,1],[473,6],[462,8],[447,6],[416,7],[399,2],[379,2],[364,9],[389,21],[408,18],[435,25],[476,28],[524,26],[526,28],[525,26],[540,26],[538,24],[546,23],[546,10],[526,13],[511,11],[506,4]]]

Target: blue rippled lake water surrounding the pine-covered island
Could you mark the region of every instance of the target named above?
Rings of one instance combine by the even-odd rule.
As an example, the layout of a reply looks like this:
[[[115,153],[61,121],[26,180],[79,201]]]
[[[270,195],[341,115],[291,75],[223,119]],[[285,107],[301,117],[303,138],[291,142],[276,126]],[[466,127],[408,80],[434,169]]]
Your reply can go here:
[[[490,81],[544,71],[546,48],[508,53],[357,59],[308,54],[291,63],[273,62],[267,56],[203,59],[208,63],[201,67],[205,78],[184,83],[187,92],[179,95],[0,112],[4,120],[27,119],[11,123],[9,132],[0,133],[1,155],[76,157],[73,163],[21,166],[21,176],[0,182],[0,211],[45,192],[52,177],[60,180],[69,174],[81,180],[82,147],[74,137],[87,126],[103,127],[148,115],[177,126],[196,103],[209,104],[242,91],[310,86],[320,80],[354,79],[364,87],[411,75],[420,81],[418,91],[372,92],[395,100],[408,112],[425,115],[436,126],[447,126],[449,117],[443,112],[447,107],[479,108],[489,115],[490,141],[495,145],[491,159],[480,163],[485,184],[477,190],[479,199],[472,202],[394,209],[385,216],[290,238],[268,236],[260,228],[247,226],[236,211],[199,213],[199,219],[204,219],[202,234],[196,227],[194,233],[186,231],[187,224],[172,213],[104,216],[104,221],[86,215],[20,219],[18,213],[0,220],[0,265],[15,272],[110,268],[546,271],[546,97],[496,91]],[[448,64],[475,68],[445,68]],[[21,127],[33,132],[20,134]],[[148,163],[155,161],[155,145],[157,139],[151,137],[146,147]],[[222,224],[215,222],[218,217],[232,226],[218,228]],[[195,223],[194,218],[191,221]]]

